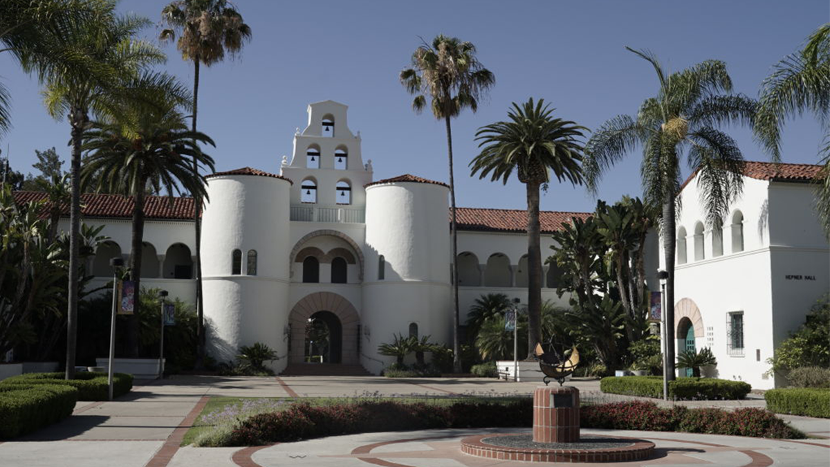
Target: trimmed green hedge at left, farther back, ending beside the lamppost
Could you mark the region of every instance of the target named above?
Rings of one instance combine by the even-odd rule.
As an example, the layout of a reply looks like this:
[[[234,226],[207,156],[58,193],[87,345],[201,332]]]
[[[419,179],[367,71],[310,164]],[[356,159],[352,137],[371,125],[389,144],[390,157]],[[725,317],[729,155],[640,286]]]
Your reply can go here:
[[[54,373],[24,373],[12,376],[0,382],[0,386],[7,384],[27,385],[62,385],[72,386],[78,390],[78,401],[106,401],[110,398],[109,384],[106,373],[82,371],[75,374],[76,379],[65,380],[61,372]],[[127,373],[115,373],[113,376],[113,396],[123,396],[133,389],[133,376]]]

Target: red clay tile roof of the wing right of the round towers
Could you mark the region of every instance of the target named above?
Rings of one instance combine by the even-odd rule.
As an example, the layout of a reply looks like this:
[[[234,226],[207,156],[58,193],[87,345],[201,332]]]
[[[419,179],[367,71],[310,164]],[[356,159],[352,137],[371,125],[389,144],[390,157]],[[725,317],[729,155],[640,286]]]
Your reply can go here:
[[[586,219],[591,213],[567,213],[540,211],[539,220],[544,234],[562,229],[571,218]],[[478,232],[527,232],[527,211],[525,209],[457,208],[459,230]]]

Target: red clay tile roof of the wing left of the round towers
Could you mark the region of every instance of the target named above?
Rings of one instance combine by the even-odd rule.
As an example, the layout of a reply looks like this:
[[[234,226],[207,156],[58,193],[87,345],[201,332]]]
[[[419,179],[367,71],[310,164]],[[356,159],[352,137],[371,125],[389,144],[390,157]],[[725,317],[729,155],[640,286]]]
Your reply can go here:
[[[38,191],[16,191],[16,204],[46,199]],[[81,194],[81,214],[90,218],[131,218],[133,197],[121,194]],[[69,206],[61,206],[63,215],[69,215]],[[178,197],[172,202],[166,196],[148,196],[144,200],[144,215],[147,219],[191,220],[193,219],[193,198]]]

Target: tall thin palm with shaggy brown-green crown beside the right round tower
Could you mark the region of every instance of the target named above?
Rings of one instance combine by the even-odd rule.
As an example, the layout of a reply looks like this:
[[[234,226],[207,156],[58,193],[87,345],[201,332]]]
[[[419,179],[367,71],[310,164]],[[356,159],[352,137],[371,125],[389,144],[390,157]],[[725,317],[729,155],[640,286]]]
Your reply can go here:
[[[439,34],[432,45],[422,43],[413,52],[412,67],[401,71],[399,79],[409,94],[415,96],[413,110],[427,106],[432,115],[443,119],[447,127],[447,159],[450,166],[450,237],[452,238],[452,367],[461,373],[461,342],[458,337],[458,265],[456,233],[456,184],[452,171],[452,126],[450,119],[465,108],[475,112],[478,101],[496,84],[496,77],[476,58],[476,46],[457,37]]]

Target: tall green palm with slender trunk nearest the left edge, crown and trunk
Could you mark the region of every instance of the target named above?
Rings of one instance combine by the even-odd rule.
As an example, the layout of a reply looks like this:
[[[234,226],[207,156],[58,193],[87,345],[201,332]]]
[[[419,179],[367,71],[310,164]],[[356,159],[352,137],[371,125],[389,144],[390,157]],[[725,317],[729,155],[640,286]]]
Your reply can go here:
[[[73,23],[59,37],[52,37],[50,47],[58,57],[71,61],[42,66],[46,109],[56,119],[67,116],[71,126],[71,206],[70,261],[67,305],[66,378],[75,376],[75,353],[78,312],[78,270],[81,226],[81,140],[89,128],[90,113],[108,115],[119,103],[139,97],[127,84],[146,66],[164,61],[164,55],[148,42],[134,35],[148,21],[139,17],[115,14],[115,2],[100,2],[96,21]],[[41,66],[36,63],[35,66]]]

